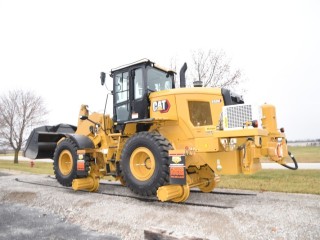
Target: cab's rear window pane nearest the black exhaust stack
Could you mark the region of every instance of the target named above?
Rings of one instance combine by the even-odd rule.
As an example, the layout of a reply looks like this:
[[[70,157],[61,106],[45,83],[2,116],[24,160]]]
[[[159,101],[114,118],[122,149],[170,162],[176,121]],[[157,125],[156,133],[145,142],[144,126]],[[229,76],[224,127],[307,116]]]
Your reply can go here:
[[[150,91],[161,91],[173,88],[173,75],[156,68],[147,68],[147,87]]]

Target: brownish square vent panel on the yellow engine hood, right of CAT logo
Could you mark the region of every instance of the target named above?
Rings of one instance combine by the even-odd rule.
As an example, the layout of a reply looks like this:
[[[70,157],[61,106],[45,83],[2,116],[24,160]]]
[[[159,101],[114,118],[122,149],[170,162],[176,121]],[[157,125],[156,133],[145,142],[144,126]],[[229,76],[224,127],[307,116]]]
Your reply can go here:
[[[212,125],[210,103],[189,101],[189,116],[193,126]]]

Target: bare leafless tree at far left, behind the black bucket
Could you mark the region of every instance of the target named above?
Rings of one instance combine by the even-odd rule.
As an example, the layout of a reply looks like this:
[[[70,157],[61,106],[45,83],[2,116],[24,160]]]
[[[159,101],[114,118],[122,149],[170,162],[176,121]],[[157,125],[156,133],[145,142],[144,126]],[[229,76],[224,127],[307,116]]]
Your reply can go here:
[[[26,142],[26,134],[43,124],[48,114],[43,99],[30,91],[14,90],[0,96],[0,145],[14,150],[14,163]]]

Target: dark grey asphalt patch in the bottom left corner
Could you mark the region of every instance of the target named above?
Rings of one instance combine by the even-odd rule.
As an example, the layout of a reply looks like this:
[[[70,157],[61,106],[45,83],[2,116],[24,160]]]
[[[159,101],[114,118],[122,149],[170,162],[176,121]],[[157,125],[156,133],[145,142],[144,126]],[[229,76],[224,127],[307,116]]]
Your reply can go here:
[[[13,203],[0,203],[0,239],[11,240],[116,240],[106,234],[86,231],[78,225],[67,223],[57,215]]]

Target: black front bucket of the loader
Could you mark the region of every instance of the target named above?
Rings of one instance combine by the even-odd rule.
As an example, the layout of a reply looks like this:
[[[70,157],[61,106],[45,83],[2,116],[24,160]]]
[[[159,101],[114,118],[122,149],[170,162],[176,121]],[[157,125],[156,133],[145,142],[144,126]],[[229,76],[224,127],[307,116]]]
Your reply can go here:
[[[35,128],[26,143],[24,156],[31,159],[52,159],[57,142],[65,137],[66,133],[74,133],[76,130],[75,126],[69,124]]]

